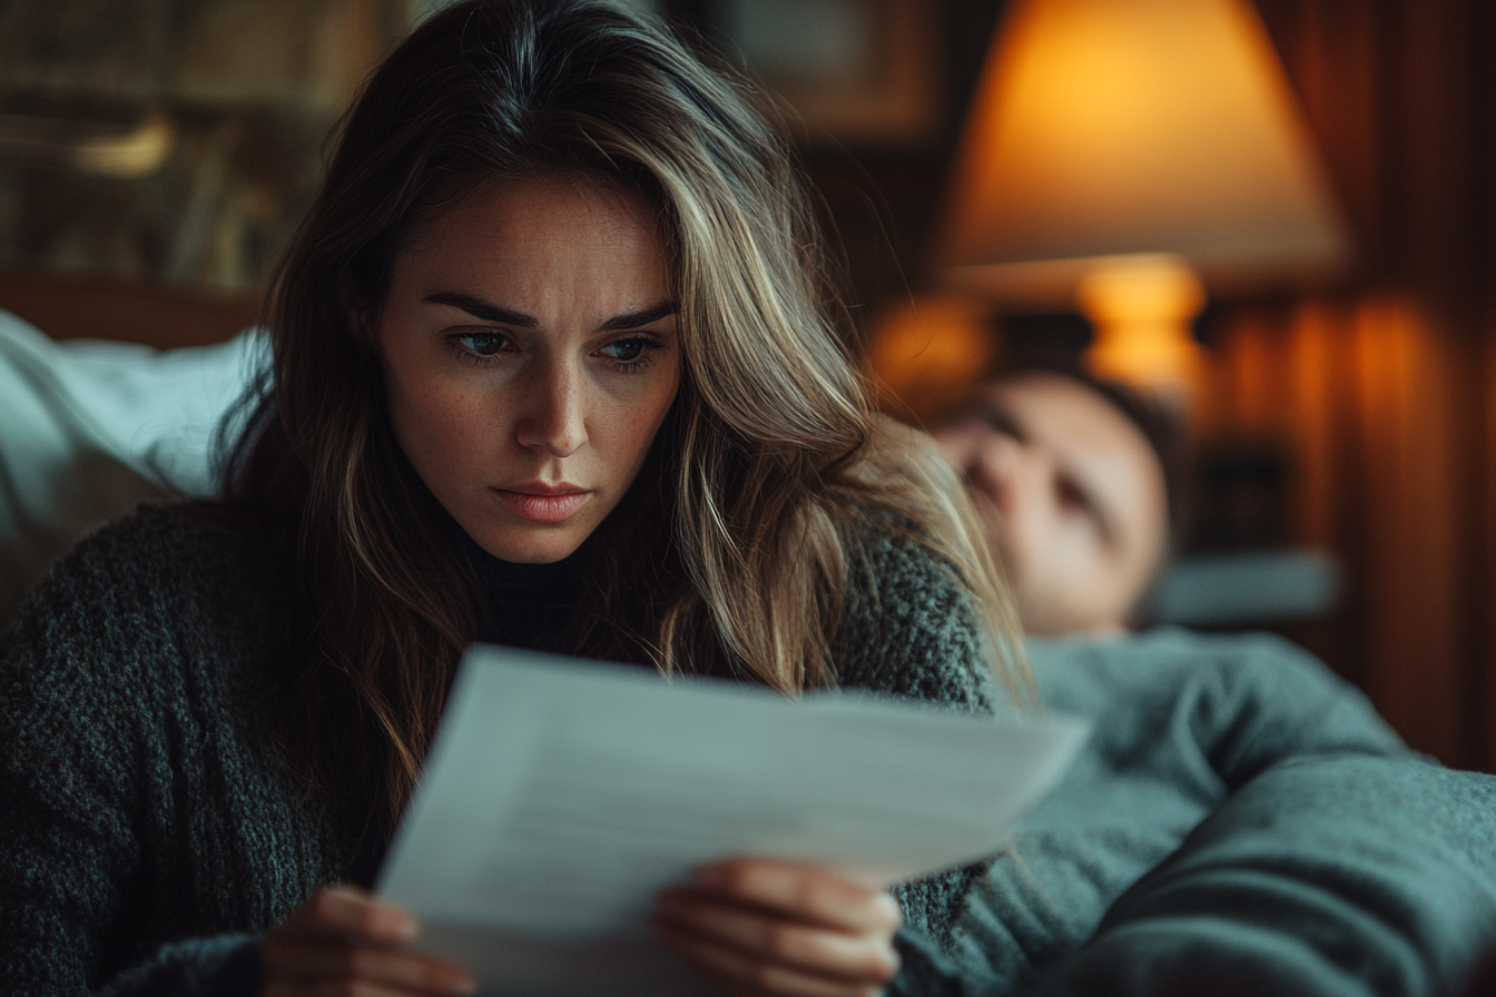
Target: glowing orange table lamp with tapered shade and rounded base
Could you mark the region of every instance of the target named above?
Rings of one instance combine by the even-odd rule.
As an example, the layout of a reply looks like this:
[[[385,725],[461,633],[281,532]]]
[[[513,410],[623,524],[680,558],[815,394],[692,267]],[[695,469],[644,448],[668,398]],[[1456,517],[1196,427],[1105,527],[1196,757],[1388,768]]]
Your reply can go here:
[[[1348,256],[1248,0],[1014,0],[938,245],[951,285],[1028,308],[1079,297],[1094,366],[1168,390],[1198,363],[1201,280],[1297,281]]]

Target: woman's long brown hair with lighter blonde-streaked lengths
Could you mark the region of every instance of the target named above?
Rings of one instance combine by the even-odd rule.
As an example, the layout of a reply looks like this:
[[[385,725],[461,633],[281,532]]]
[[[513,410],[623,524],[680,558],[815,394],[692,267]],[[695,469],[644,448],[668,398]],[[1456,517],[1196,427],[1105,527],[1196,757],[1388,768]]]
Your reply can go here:
[[[377,314],[419,227],[500,176],[645,197],[679,303],[681,389],[613,513],[630,529],[589,580],[598,623],[570,650],[787,694],[832,685],[848,559],[874,519],[972,592],[1011,680],[1016,631],[980,526],[923,438],[874,414],[802,181],[744,94],[616,6],[470,0],[420,25],[346,120],[275,277],[274,369],[226,487],[287,525],[290,758],[314,786],[373,791],[386,828],[474,638],[477,592],[349,312]]]

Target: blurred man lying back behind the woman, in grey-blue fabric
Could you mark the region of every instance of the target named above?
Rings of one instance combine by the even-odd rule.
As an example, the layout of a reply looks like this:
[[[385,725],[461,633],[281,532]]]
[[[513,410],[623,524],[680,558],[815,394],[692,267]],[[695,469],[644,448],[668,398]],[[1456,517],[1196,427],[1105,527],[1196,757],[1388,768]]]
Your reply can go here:
[[[959,954],[907,948],[929,981],[908,993],[1465,993],[1496,945],[1496,777],[1408,750],[1278,638],[1128,632],[1170,534],[1174,451],[1146,408],[1014,374],[935,435],[1044,709],[1094,734],[966,904]]]

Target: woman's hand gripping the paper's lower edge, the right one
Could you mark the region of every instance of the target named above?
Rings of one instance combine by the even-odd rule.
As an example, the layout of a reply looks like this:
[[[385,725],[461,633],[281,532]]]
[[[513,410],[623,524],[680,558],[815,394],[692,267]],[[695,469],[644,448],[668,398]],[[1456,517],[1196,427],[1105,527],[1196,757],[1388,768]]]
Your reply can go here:
[[[738,858],[660,894],[660,940],[735,997],[871,997],[899,972],[899,906],[797,862]]]

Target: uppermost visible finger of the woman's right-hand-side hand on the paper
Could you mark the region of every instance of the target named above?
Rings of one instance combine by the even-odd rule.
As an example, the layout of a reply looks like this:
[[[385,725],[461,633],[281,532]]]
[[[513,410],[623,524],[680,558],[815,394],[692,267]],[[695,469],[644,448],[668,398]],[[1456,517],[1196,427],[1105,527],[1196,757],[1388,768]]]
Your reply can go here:
[[[887,892],[800,862],[733,858],[697,868],[696,885],[742,904],[842,931],[887,931],[892,936],[904,919]]]

